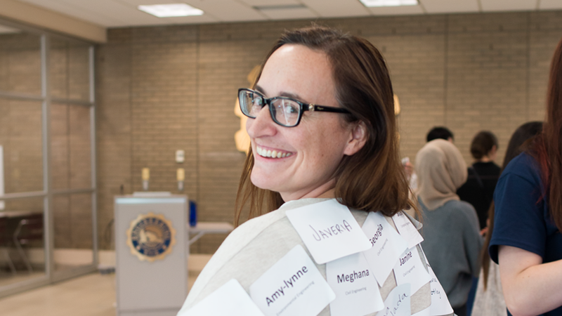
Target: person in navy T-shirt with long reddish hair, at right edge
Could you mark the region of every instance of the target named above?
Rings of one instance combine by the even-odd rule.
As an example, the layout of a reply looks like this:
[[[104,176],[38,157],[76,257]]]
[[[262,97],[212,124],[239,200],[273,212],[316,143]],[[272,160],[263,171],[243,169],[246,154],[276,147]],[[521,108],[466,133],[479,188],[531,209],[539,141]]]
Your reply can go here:
[[[508,315],[562,315],[562,41],[546,113],[542,133],[509,162],[494,193],[489,251]]]

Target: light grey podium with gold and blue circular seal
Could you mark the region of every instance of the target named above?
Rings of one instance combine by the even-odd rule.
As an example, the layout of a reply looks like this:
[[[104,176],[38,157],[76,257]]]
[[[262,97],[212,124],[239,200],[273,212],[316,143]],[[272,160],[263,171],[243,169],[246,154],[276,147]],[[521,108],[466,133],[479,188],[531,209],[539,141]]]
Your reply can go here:
[[[188,296],[188,197],[115,197],[117,316],[176,316]]]

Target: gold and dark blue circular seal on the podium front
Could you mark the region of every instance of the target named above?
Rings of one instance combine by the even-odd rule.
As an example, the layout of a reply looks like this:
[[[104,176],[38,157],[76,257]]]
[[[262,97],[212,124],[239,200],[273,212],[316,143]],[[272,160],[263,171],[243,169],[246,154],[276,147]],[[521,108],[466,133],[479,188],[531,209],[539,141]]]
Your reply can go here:
[[[140,214],[131,221],[127,230],[127,245],[131,254],[140,261],[154,262],[171,254],[171,247],[176,244],[176,230],[164,215],[155,213]]]

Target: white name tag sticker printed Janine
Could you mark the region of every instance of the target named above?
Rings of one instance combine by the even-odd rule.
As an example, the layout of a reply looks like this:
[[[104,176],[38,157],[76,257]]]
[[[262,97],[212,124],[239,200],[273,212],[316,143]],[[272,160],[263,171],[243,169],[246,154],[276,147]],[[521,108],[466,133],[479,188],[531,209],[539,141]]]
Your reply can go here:
[[[425,263],[421,263],[417,247],[407,249],[398,258],[398,263],[394,266],[394,277],[396,284],[410,283],[410,291],[416,293],[421,287],[431,280],[431,276],[424,268]]]

